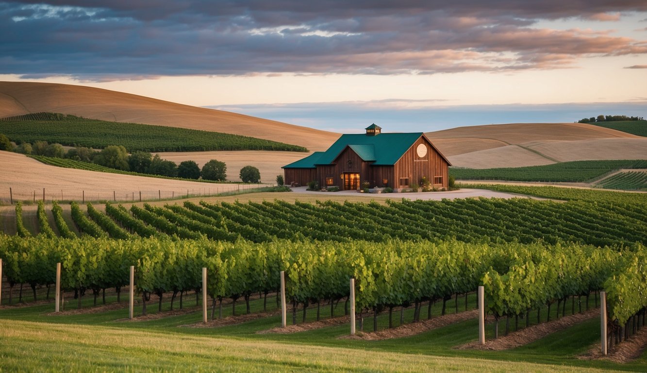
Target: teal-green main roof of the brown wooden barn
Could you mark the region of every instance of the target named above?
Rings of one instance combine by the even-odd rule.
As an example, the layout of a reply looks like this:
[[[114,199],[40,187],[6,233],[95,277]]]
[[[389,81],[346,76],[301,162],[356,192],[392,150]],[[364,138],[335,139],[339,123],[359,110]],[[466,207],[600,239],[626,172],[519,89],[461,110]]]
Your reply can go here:
[[[375,160],[373,165],[376,166],[393,166],[404,153],[411,148],[411,145],[422,136],[422,132],[415,133],[380,133],[375,136],[367,136],[365,133],[351,133],[342,135],[337,141],[331,145],[328,150],[323,152],[316,161],[316,164],[331,164],[333,161],[344,151],[347,146],[351,146],[354,152],[357,153],[362,159],[364,157]],[[366,145],[371,145],[373,148],[372,154],[369,153],[369,148]],[[358,149],[358,150],[355,150]],[[360,154],[361,152],[361,154]],[[307,157],[305,159],[308,159]],[[302,159],[302,161],[305,161]],[[364,159],[369,161],[369,159]],[[295,162],[296,163],[296,162]],[[294,164],[294,163],[292,163]],[[288,166],[292,166],[288,164]],[[287,166],[284,166],[287,167]],[[292,166],[291,168],[296,168]],[[305,167],[303,167],[305,168]],[[311,167],[308,167],[311,168]]]

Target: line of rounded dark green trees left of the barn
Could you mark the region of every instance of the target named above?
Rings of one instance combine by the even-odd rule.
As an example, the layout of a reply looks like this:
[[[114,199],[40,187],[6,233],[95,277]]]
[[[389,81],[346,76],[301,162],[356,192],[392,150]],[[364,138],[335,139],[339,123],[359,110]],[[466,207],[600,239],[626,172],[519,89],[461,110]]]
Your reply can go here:
[[[225,181],[227,179],[226,164],[215,159],[208,161],[200,169],[195,161],[183,161],[178,165],[173,161],[162,159],[159,154],[153,155],[142,151],[129,154],[126,148],[120,145],[109,145],[100,151],[77,146],[66,152],[61,144],[48,144],[47,141],[34,141],[34,144],[23,142],[14,146],[5,135],[0,133],[0,150],[72,159],[139,174],[182,177],[184,179],[200,179],[202,177],[204,180],[213,181]],[[254,166],[241,168],[240,177],[245,183],[258,183],[261,180],[258,168]]]

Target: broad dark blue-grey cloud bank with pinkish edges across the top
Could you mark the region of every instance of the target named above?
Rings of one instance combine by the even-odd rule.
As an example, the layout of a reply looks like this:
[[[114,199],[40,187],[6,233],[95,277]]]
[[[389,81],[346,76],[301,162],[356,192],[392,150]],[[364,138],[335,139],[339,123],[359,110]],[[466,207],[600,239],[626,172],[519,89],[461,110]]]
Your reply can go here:
[[[433,74],[569,67],[647,41],[599,21],[644,1],[20,1],[0,3],[0,73],[84,80],[254,73]]]

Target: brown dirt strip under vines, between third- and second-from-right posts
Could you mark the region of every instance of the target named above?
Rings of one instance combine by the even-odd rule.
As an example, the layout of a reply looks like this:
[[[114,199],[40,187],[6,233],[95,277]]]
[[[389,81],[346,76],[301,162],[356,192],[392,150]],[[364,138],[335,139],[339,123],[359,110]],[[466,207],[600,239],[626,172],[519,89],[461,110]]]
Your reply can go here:
[[[378,330],[377,332],[360,332],[356,335],[344,335],[340,339],[364,339],[365,341],[378,341],[382,339],[410,337],[429,330],[442,328],[455,322],[466,321],[474,319],[478,316],[478,310],[463,311],[460,313],[452,313],[451,315],[444,315],[434,317],[431,320],[421,320],[411,324],[403,324],[392,329]],[[366,319],[365,319],[366,321]]]

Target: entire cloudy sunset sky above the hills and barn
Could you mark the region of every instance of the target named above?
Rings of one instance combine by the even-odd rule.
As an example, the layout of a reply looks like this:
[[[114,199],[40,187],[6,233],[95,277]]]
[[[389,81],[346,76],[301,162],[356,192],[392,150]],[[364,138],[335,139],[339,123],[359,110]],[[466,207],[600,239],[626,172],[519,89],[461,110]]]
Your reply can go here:
[[[647,117],[647,2],[0,2],[0,80],[335,131]]]

